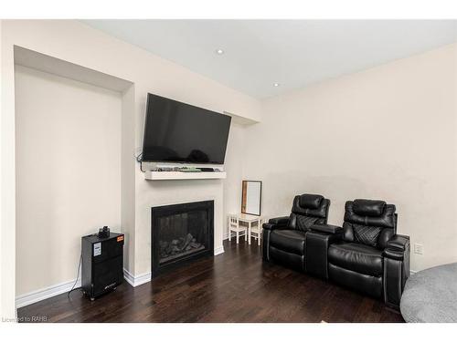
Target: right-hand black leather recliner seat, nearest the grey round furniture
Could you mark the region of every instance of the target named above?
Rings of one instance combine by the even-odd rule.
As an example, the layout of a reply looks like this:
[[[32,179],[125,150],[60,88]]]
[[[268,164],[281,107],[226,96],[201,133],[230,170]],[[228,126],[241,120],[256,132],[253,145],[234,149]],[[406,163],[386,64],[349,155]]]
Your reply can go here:
[[[397,234],[395,205],[383,201],[345,203],[341,239],[328,247],[328,277],[399,306],[409,276],[409,237]]]

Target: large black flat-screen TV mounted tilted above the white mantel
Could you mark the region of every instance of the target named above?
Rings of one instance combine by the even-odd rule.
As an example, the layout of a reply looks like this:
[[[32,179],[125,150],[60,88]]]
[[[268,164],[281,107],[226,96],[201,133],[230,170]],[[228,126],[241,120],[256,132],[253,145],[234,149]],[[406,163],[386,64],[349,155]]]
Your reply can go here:
[[[223,164],[231,118],[148,94],[143,161]]]

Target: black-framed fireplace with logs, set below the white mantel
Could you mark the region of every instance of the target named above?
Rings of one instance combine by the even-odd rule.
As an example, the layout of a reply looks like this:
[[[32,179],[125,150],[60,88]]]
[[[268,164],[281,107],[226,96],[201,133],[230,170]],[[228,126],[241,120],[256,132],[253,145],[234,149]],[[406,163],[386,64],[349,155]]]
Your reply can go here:
[[[214,254],[214,201],[151,208],[152,277]]]

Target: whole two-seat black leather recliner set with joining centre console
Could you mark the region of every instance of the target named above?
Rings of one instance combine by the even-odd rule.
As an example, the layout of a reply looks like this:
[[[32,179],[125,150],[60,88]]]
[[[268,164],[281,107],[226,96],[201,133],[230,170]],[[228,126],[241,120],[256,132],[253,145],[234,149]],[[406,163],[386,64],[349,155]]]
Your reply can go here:
[[[319,197],[328,201],[320,202],[325,209],[314,209],[320,209],[324,215],[296,232],[297,209],[303,204],[298,211],[303,214],[303,206],[313,203],[313,196],[316,195],[296,196],[290,217],[263,224],[263,259],[382,297],[388,306],[398,308],[409,276],[409,236],[397,234],[395,205],[372,200],[348,201],[345,222],[339,227],[326,224],[330,201],[316,196],[315,202]]]

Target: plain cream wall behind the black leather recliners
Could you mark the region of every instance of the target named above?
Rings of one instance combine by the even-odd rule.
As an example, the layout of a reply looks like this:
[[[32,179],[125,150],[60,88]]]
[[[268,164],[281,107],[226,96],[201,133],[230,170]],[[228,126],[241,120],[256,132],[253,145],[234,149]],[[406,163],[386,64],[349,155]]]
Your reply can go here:
[[[264,181],[262,211],[295,194],[397,205],[399,233],[421,243],[411,269],[457,261],[456,45],[335,78],[263,103],[247,129],[244,176]]]

